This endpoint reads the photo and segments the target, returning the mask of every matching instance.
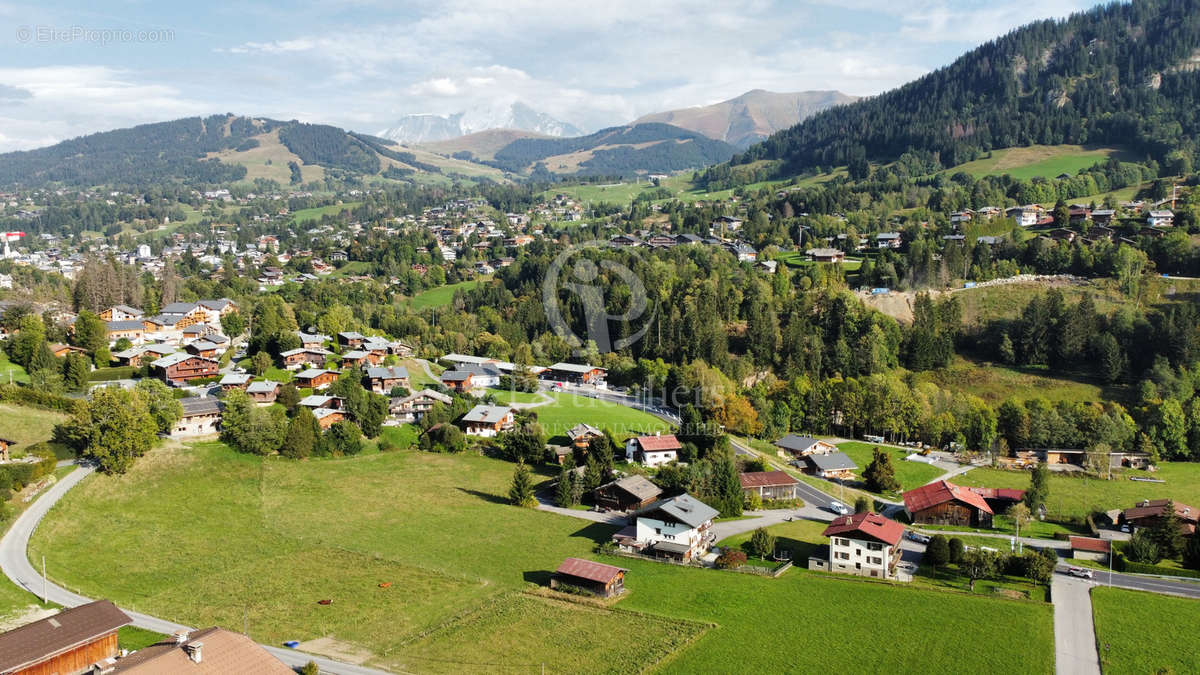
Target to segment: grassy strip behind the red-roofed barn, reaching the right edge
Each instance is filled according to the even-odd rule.
[[[1115,476],[1114,480],[1096,480],[1051,473],[1046,509],[1051,515],[1084,516],[1093,508],[1129,508],[1141,500],[1172,498],[1193,506],[1200,502],[1200,464],[1162,462],[1154,473],[1127,471],[1123,476]],[[1129,480],[1127,476],[1159,478],[1166,483],[1140,483]],[[959,485],[1024,490],[1030,486],[1030,472],[972,468],[954,482]]]

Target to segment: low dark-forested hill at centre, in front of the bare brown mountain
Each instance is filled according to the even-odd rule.
[[[577,138],[521,138],[496,153],[493,166],[511,172],[632,175],[666,173],[727,161],[734,149],[722,141],[671,126],[614,126]]]

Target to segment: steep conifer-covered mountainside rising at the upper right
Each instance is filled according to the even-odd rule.
[[[1200,0],[1112,4],[1014,30],[920,79],[818,113],[734,160],[784,173],[890,161],[955,166],[995,148],[1123,145],[1163,161],[1200,131]]]

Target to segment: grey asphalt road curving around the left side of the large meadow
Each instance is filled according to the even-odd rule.
[[[37,528],[42,518],[44,518],[50,510],[50,507],[53,507],[60,498],[62,498],[62,495],[67,494],[71,488],[74,488],[92,471],[94,468],[91,466],[82,466],[64,476],[61,480],[55,483],[49,490],[43,492],[41,497],[34,501],[34,503],[25,509],[25,513],[20,514],[20,518],[12,524],[12,527],[7,533],[5,533],[4,538],[0,539],[0,572],[4,572],[4,574],[8,579],[12,579],[14,584],[37,597],[42,597],[43,593],[42,575],[29,562],[29,539],[34,536],[34,530]],[[46,584],[44,593],[46,599],[62,607],[76,607],[91,602],[91,598],[73,593],[54,584]],[[167,635],[176,631],[192,631],[192,627],[184,626],[182,623],[175,623],[174,621],[167,621],[164,619],[158,619],[137,611],[130,611],[128,609],[124,609],[124,611],[133,619],[133,625],[138,628],[145,628],[148,631]],[[317,667],[320,668],[322,673],[330,673],[334,675],[384,675],[386,673],[385,670],[377,670],[374,668],[366,668],[353,663],[341,663],[338,661],[331,661],[295,650],[270,645],[263,645],[263,647],[292,668],[301,667],[312,661],[317,663]]]

